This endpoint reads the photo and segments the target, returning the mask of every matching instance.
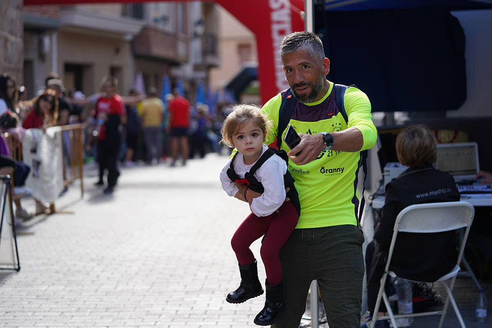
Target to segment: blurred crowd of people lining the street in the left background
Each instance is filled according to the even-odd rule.
[[[114,191],[120,176],[119,163],[132,167],[139,162],[152,165],[171,158],[170,166],[179,159],[185,165],[195,155],[203,158],[208,151],[220,151],[217,143],[221,122],[215,118],[220,120],[222,115],[211,115],[204,104],[192,106],[177,89],[164,97],[156,88],[150,88],[147,95],[135,89],[120,95],[117,79],[105,76],[99,92],[86,96],[80,90],[66,90],[61,77],[50,73],[35,97],[27,99],[27,93],[11,74],[1,74],[1,132],[22,143],[27,129],[45,131],[52,126],[84,123],[84,158],[98,163],[99,180],[95,184],[106,185],[104,193]],[[225,105],[217,104],[220,114]],[[16,193],[29,193],[24,186],[31,171],[29,163],[19,161],[20,154],[10,154],[3,134],[1,138],[0,173],[13,175]],[[36,210],[30,213],[22,207],[20,198],[14,201],[18,220],[47,210],[47,204],[36,201]]]

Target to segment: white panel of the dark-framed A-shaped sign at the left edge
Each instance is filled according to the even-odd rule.
[[[17,244],[13,234],[13,221],[10,215],[9,198],[5,197],[9,180],[0,180],[0,268],[19,269]]]

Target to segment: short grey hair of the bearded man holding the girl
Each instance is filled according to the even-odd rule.
[[[321,39],[312,32],[294,32],[286,35],[280,44],[280,57],[299,50],[306,50],[309,56],[321,62],[325,58]]]

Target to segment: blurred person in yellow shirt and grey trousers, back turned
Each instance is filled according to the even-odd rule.
[[[163,117],[164,103],[157,97],[157,89],[151,88],[147,99],[142,101],[142,128],[149,164],[152,163],[154,158],[158,163],[162,155]]]

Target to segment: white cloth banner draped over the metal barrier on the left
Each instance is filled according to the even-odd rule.
[[[22,140],[24,163],[31,167],[26,186],[32,197],[52,204],[63,190],[62,129],[28,129]]]

